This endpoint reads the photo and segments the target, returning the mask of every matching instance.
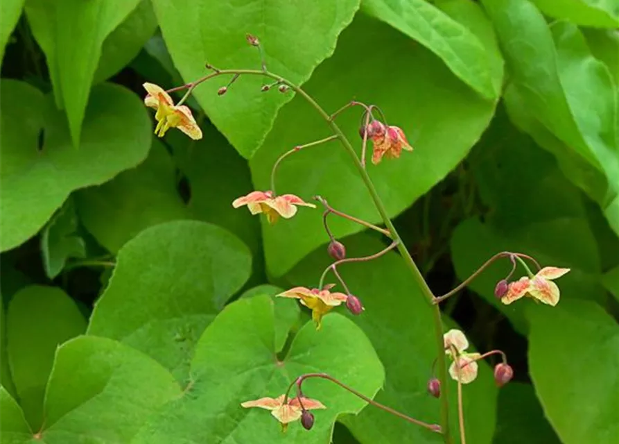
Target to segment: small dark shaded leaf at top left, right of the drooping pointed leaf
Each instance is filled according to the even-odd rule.
[[[141,0],[125,20],[103,41],[101,58],[92,83],[114,76],[137,56],[157,29],[150,0]]]

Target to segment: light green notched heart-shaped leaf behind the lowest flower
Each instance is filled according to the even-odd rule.
[[[294,301],[288,301],[295,303]],[[273,305],[268,297],[238,300],[207,327],[191,362],[191,384],[149,421],[132,444],[158,443],[329,443],[335,418],[356,413],[365,402],[324,380],[303,386],[308,398],[320,400],[311,433],[298,423],[286,434],[262,409],[246,410],[241,402],[276,398],[303,373],[329,373],[365,395],[381,387],[383,366],[363,331],[347,318],[329,314],[322,330],[308,322],[290,352],[278,361],[274,348]]]

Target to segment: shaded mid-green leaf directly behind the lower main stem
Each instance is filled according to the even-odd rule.
[[[342,240],[349,257],[374,254],[385,246],[358,234]],[[315,287],[329,257],[317,250],[286,276],[291,286]],[[437,356],[432,307],[410,271],[396,253],[387,253],[367,264],[338,267],[351,291],[360,298],[365,311],[354,321],[372,341],[385,366],[387,379],[376,401],[413,418],[439,422],[439,401],[426,392]],[[333,276],[329,278],[334,281]],[[327,280],[326,282],[333,282]],[[345,311],[345,310],[343,310]],[[444,321],[453,324],[444,316]],[[445,390],[445,388],[443,388]],[[456,384],[450,379],[452,425],[457,422]],[[464,387],[464,418],[471,443],[490,443],[496,415],[496,388],[489,366],[480,363],[478,380]],[[441,436],[406,421],[367,408],[359,416],[342,418],[362,444],[439,443]]]

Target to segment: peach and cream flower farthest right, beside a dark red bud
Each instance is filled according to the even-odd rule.
[[[532,278],[523,276],[515,282],[510,282],[509,287],[507,287],[507,293],[500,300],[503,304],[509,305],[523,296],[530,296],[554,307],[559,302],[560,294],[559,287],[552,280],[561,278],[562,275],[569,271],[570,268],[546,266]]]

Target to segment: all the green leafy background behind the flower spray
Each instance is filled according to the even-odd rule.
[[[272,295],[329,263],[320,212],[268,226],[230,205],[329,135],[302,98],[213,80],[188,101],[202,140],[152,136],[141,84],[257,67],[245,33],[326,110],[377,103],[405,130],[415,151],[369,173],[435,293],[500,250],[572,269],[552,309],[496,301],[508,264],[444,305],[516,370],[500,392],[486,364],[465,387],[469,441],[616,443],[618,28],[617,0],[2,0],[2,443],[440,441],[322,381],[312,432],[240,407],[320,370],[438,421],[430,307],[396,253],[343,266],[366,311],[316,332]],[[335,143],[277,183],[380,221]],[[332,229],[349,255],[385,245]]]

